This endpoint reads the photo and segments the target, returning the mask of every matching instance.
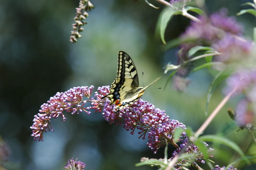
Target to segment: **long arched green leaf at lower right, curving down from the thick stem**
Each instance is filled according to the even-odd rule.
[[[232,148],[233,150],[235,150],[242,157],[245,157],[243,151],[239,148],[239,146],[236,143],[234,143],[233,141],[229,140],[228,138],[226,138],[224,136],[203,135],[203,136],[200,136],[198,138],[198,140],[200,140],[200,141],[207,141],[207,142],[216,142],[216,143],[220,143],[220,144],[226,145],[226,146]],[[249,160],[247,158],[244,158],[244,160],[249,162]]]

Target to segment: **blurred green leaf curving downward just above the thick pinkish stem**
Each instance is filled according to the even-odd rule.
[[[207,109],[208,109],[208,105],[209,102],[211,100],[212,94],[214,92],[214,90],[216,89],[216,87],[223,81],[225,80],[231,73],[230,72],[224,72],[221,71],[219,72],[214,79],[212,80],[210,87],[208,89],[207,92],[207,96],[206,96],[206,106],[205,106],[205,115],[207,115]]]

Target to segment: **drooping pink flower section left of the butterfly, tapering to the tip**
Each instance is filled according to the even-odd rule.
[[[90,114],[88,110],[91,107],[84,107],[87,102],[83,100],[83,97],[90,98],[92,89],[94,87],[74,87],[64,93],[58,92],[55,96],[51,97],[47,103],[41,105],[39,113],[34,116],[32,129],[32,137],[35,140],[43,141],[43,132],[53,131],[51,126],[51,119],[62,117],[63,121],[66,120],[63,111],[71,112],[71,114],[79,114],[80,112],[86,112]]]

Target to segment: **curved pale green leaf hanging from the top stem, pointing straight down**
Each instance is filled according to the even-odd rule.
[[[160,37],[164,44],[166,44],[165,39],[164,39],[165,29],[167,27],[168,22],[172,19],[172,16],[176,15],[176,14],[182,14],[182,12],[178,11],[178,10],[174,10],[172,8],[164,9],[164,13],[160,20]]]

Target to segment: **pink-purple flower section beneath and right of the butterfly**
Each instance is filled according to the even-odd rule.
[[[109,88],[109,86],[98,88],[95,97],[100,100],[99,94],[107,94],[107,88]],[[103,97],[104,95],[100,95],[100,97]],[[178,120],[170,120],[165,111],[155,108],[153,104],[150,104],[141,98],[130,106],[119,110],[119,112],[116,112],[117,109],[114,104],[109,105],[108,100],[104,101],[105,103],[103,104],[102,109],[104,119],[110,124],[117,120],[116,124],[118,125],[120,125],[121,120],[123,120],[124,128],[127,131],[131,131],[131,134],[134,134],[135,129],[138,129],[138,133],[142,139],[145,139],[146,134],[148,133],[147,145],[154,151],[154,153],[156,153],[161,146],[170,143],[176,127],[186,128],[185,125]],[[93,105],[95,107],[95,104]],[[102,103],[100,107],[102,107]]]

